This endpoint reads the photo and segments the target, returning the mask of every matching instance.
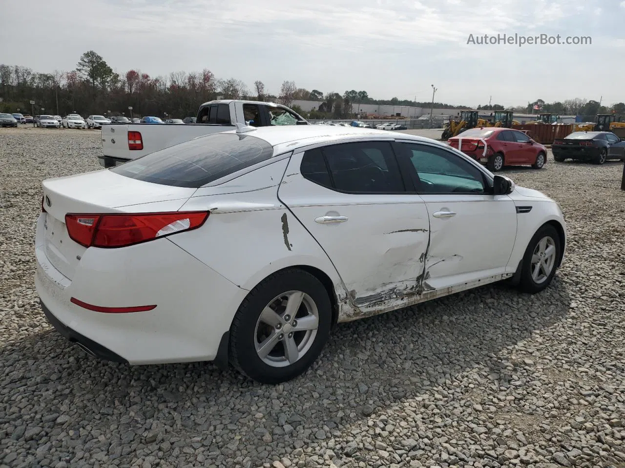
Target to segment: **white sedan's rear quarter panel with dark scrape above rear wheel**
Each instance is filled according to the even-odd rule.
[[[210,210],[206,223],[169,240],[245,290],[293,265],[313,266],[339,283],[324,251],[277,198],[287,162],[200,189],[199,193],[212,194],[192,197],[180,209]]]

